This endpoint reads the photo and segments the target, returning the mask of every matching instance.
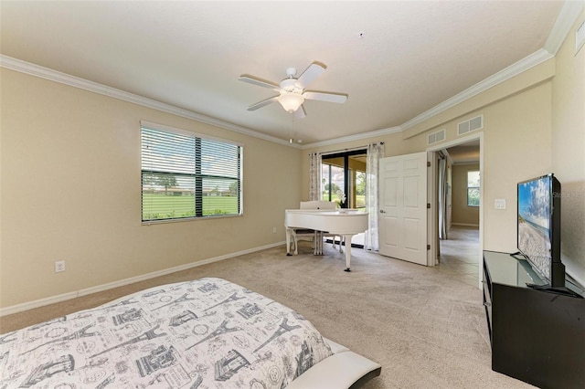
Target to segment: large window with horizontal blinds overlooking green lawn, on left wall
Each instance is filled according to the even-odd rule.
[[[143,122],[143,222],[241,215],[242,149]]]

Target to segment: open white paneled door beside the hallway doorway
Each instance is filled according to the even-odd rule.
[[[427,265],[427,152],[380,159],[379,253]]]

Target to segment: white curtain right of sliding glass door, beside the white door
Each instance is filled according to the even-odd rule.
[[[367,145],[366,163],[366,210],[369,213],[367,231],[364,237],[364,249],[378,251],[378,172],[379,160],[384,158],[384,143]]]

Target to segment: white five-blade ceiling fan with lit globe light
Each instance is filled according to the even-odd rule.
[[[286,69],[286,79],[282,79],[280,83],[267,81],[265,79],[259,79],[254,76],[242,74],[239,76],[240,81],[249,82],[250,84],[258,85],[263,88],[268,88],[279,92],[277,96],[272,96],[266,100],[261,100],[256,104],[250,105],[248,110],[258,110],[274,101],[281,103],[282,108],[289,113],[293,114],[293,117],[297,119],[304,118],[306,112],[304,111],[303,102],[304,100],[320,100],[327,102],[343,103],[347,100],[345,93],[333,93],[333,92],[321,92],[316,90],[305,90],[311,82],[319,77],[327,68],[321,62],[313,62],[303,71],[303,74],[299,78],[295,78],[296,69]]]

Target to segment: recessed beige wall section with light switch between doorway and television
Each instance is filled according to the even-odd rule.
[[[516,184],[549,173],[550,82],[484,109],[484,249],[516,251]],[[506,201],[496,210],[495,199]]]

